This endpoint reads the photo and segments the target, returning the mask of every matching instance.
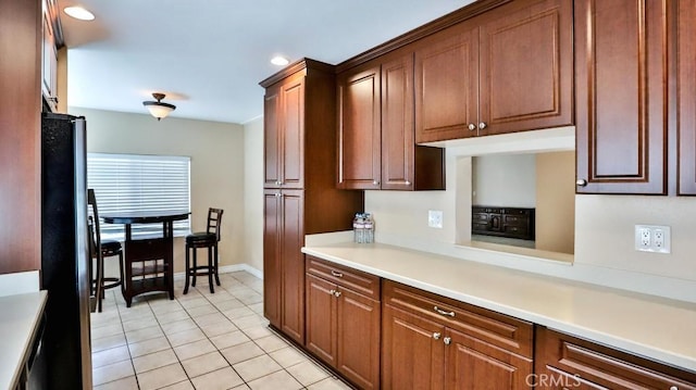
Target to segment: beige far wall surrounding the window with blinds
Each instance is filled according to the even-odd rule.
[[[204,230],[208,207],[224,210],[220,265],[245,262],[245,137],[239,125],[148,114],[69,108],[87,118],[87,151],[188,155],[191,229]],[[184,271],[185,243],[174,240],[174,272]]]

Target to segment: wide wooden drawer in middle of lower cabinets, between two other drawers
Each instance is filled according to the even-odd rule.
[[[532,357],[533,325],[489,310],[384,280],[383,302],[463,331],[521,356]]]

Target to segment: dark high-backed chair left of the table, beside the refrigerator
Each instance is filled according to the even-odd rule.
[[[90,267],[90,278],[92,282],[92,291],[97,299],[97,311],[101,313],[101,300],[104,298],[104,290],[121,286],[123,293],[123,246],[116,240],[102,240],[101,229],[99,227],[99,207],[97,207],[97,197],[95,190],[87,190],[87,204],[89,205],[89,253],[91,259],[97,261],[97,275],[92,275]],[[97,250],[99,249],[99,250]],[[117,257],[116,257],[117,256]],[[104,277],[104,259],[117,259],[119,277]]]

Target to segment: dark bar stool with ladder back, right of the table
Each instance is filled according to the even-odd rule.
[[[215,293],[213,288],[213,276],[215,284],[220,286],[217,276],[217,242],[220,241],[220,226],[222,223],[222,209],[208,209],[208,227],[206,231],[192,232],[186,236],[186,287],[184,293],[188,293],[189,277],[192,278],[191,286],[196,287],[196,276],[208,275],[210,293]],[[208,248],[208,264],[198,265],[196,252],[199,248]],[[189,256],[194,252],[192,264]]]

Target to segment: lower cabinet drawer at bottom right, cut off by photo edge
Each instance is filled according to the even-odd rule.
[[[536,327],[536,373],[567,377],[570,383],[610,389],[696,389],[687,373],[593,342]]]

